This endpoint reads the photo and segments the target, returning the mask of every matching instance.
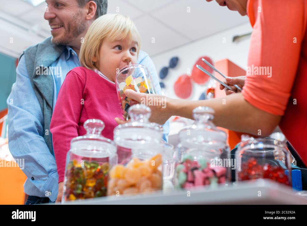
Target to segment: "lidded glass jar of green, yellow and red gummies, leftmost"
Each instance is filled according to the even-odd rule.
[[[84,122],[87,134],[71,140],[67,153],[62,203],[107,194],[109,168],[117,164],[115,143],[101,136],[103,121]]]

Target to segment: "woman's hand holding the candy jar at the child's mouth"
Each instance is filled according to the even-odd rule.
[[[172,101],[168,97],[157,94],[138,93],[130,89],[126,89],[125,94],[129,99],[134,99],[142,105],[150,107],[150,122],[163,125],[169,119],[169,117],[172,116],[172,111],[169,111]],[[120,118],[115,118],[115,121],[118,124],[123,124],[127,122]]]

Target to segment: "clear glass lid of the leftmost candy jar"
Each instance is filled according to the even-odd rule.
[[[71,150],[79,150],[80,155],[90,155],[88,157],[93,156],[93,151],[99,152],[101,157],[107,157],[116,153],[115,143],[101,135],[105,127],[103,121],[99,119],[87,119],[83,125],[87,133],[71,140]],[[99,154],[97,154],[96,157],[98,157],[98,155]]]

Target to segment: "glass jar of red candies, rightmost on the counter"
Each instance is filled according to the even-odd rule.
[[[286,143],[257,138],[239,143],[235,152],[236,181],[268,178],[291,185],[290,152]]]

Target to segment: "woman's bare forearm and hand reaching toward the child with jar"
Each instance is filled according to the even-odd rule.
[[[152,111],[150,121],[159,124],[163,124],[172,115],[193,119],[192,111],[195,107],[208,106],[215,111],[213,121],[216,126],[267,136],[274,130],[281,119],[281,116],[272,115],[254,107],[243,98],[241,93],[227,95],[223,98],[196,101],[171,99],[162,95],[137,93],[132,90],[126,90],[125,94],[128,98],[135,99],[138,102],[146,100],[146,95],[148,95],[148,100],[155,98],[156,103],[159,103],[161,99],[165,101],[165,108],[162,108],[161,103],[156,106],[149,106]],[[150,101],[148,102],[150,103]],[[152,101],[152,103],[154,102]],[[125,123],[125,121],[118,118],[116,121]]]

